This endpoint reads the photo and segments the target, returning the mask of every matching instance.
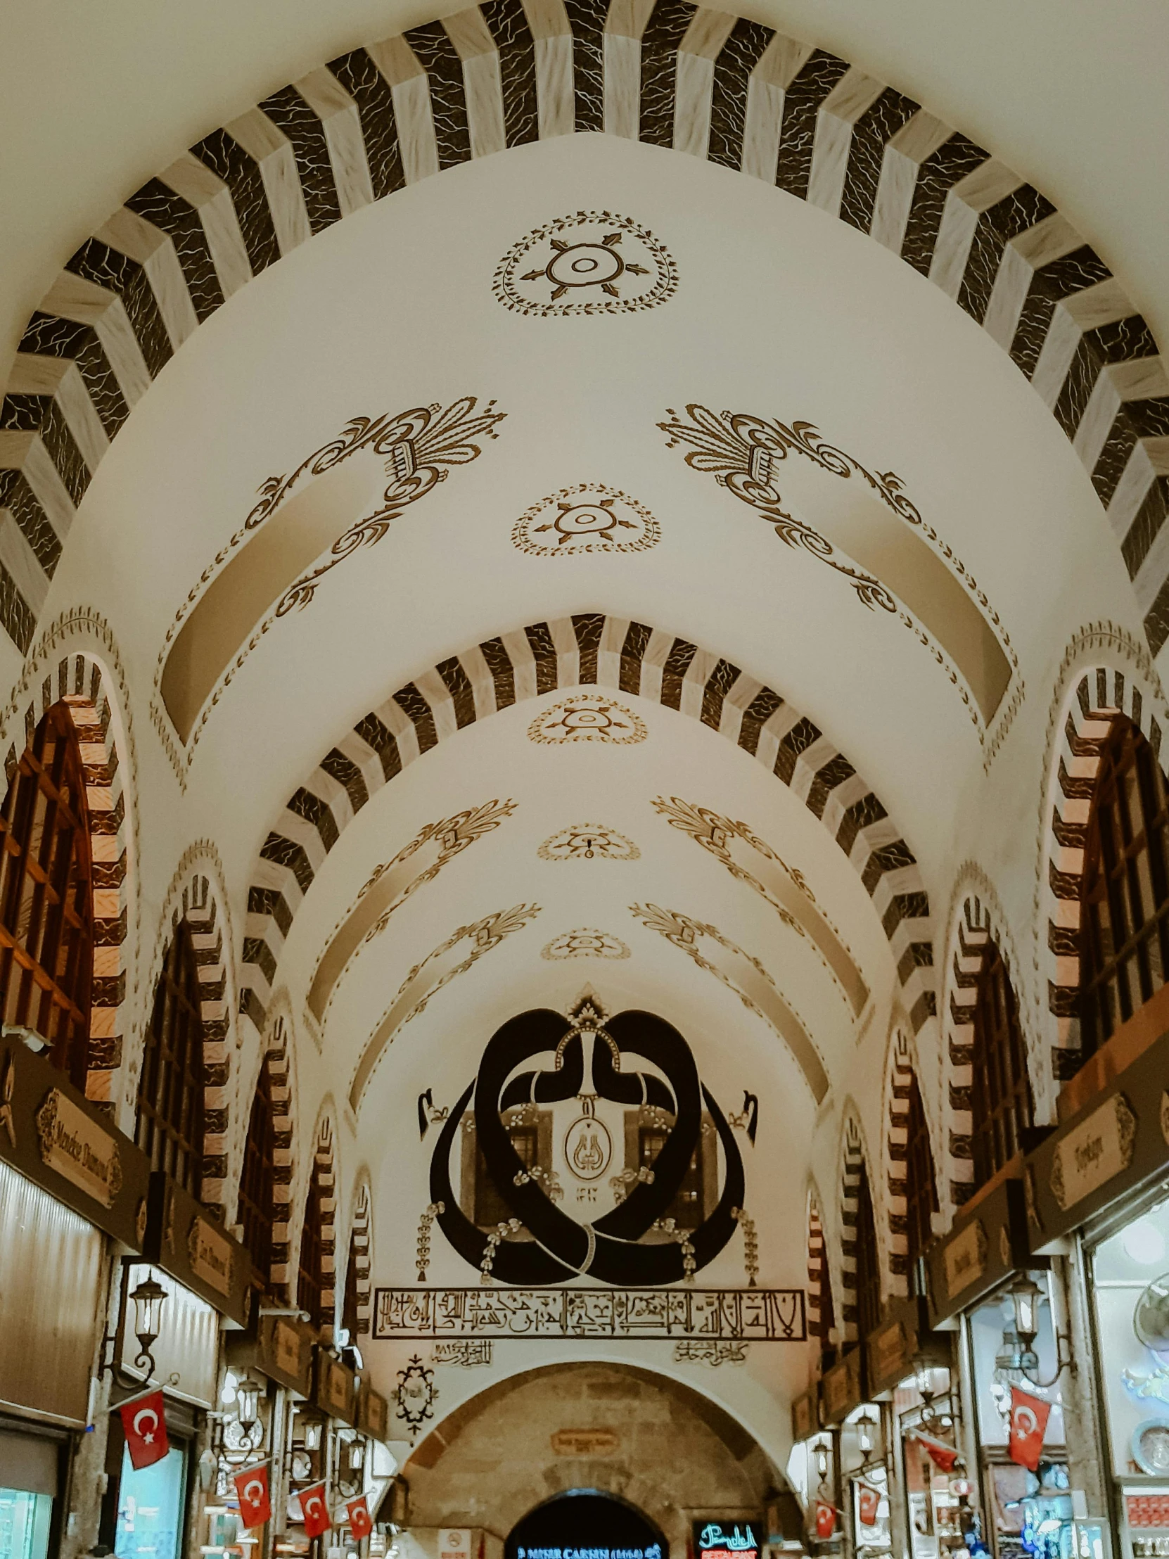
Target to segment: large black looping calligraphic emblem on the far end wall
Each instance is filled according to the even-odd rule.
[[[650,1122],[639,1135],[642,1163],[611,1175],[631,1112]],[[695,1213],[695,1227],[678,1228],[672,1210],[683,1182],[697,1155],[714,1151],[714,1141],[701,1144],[703,1113],[722,1147],[722,1188],[706,1216]],[[474,1121],[489,1200],[508,1214],[485,1227],[460,1208],[450,1182],[464,1116]],[[580,1188],[575,1202],[561,1177],[569,1191]],[[606,1177],[614,1188],[608,1210],[594,1191]],[[482,1190],[480,1180],[477,1199]],[[689,1045],[662,1018],[630,1010],[574,1021],[525,1012],[496,1030],[479,1076],[450,1110],[430,1160],[430,1202],[443,1208],[438,1225],[454,1249],[497,1281],[539,1286],[589,1277],[620,1288],[658,1286],[692,1278],[734,1236],[743,1161]]]

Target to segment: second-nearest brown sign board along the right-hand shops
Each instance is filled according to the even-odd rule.
[[[1022,1182],[1004,1180],[960,1211],[951,1232],[929,1246],[931,1327],[946,1325],[1030,1261]]]

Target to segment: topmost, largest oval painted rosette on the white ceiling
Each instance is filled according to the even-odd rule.
[[[630,217],[577,210],[535,228],[496,267],[496,298],[513,313],[631,313],[673,296],[678,267]]]

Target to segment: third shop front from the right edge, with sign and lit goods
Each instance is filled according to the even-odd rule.
[[[888,1447],[859,1508],[870,1551],[938,1559],[965,1547],[969,1531],[949,1338],[931,1330],[923,1299],[906,1299],[888,1306],[865,1352],[868,1394],[881,1403]]]

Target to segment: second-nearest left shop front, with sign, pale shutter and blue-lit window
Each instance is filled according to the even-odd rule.
[[[157,1291],[154,1339],[142,1345],[136,1297]],[[162,1389],[167,1453],[134,1465],[125,1416],[111,1417],[108,1494],[101,1539],[115,1559],[179,1559],[189,1523],[198,1523],[210,1414],[218,1406],[220,1339],[242,1328],[251,1306],[251,1258],[206,1208],[167,1174],[150,1177],[143,1260],[122,1275],[114,1403]],[[132,1433],[132,1417],[131,1433]],[[108,1529],[112,1518],[112,1532]]]

